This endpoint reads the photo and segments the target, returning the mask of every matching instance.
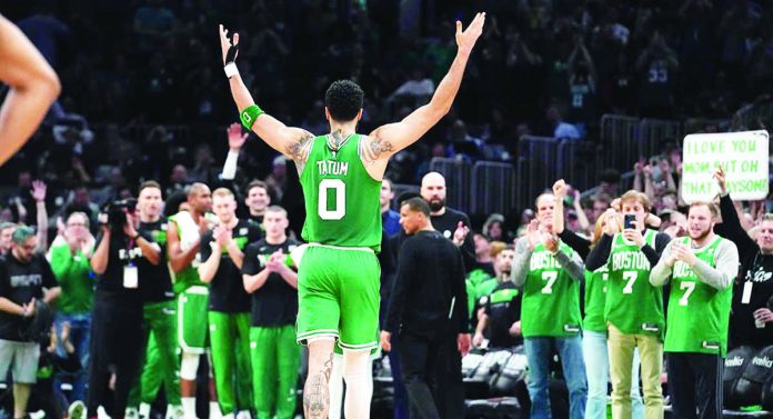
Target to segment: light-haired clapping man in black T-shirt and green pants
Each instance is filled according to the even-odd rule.
[[[252,406],[250,295],[241,267],[244,248],[260,240],[261,231],[254,222],[237,218],[237,200],[225,188],[212,192],[212,211],[218,225],[201,238],[199,277],[211,285],[208,320],[214,386],[220,411],[232,419]]]

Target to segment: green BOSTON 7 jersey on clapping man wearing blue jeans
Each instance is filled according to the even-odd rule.
[[[563,242],[559,246],[574,255]],[[521,329],[524,338],[578,336],[581,329],[580,281],[570,278],[542,243],[534,248],[523,283]]]

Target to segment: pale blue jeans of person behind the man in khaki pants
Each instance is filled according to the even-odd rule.
[[[586,419],[606,418],[606,390],[610,380],[610,357],[606,352],[606,332],[583,332],[582,350],[585,353],[585,371],[588,376]],[[631,402],[633,419],[644,419],[644,405],[639,390],[639,349],[633,353],[633,370],[631,371]]]

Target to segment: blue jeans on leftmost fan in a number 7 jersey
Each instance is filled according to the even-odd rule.
[[[582,357],[582,338],[524,338],[523,346],[529,361],[529,398],[531,399],[531,418],[550,419],[550,382],[551,343],[555,345],[563,367],[564,379],[569,388],[569,417],[583,419],[585,417],[585,362]]]

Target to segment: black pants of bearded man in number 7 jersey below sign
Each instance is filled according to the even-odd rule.
[[[721,419],[724,369],[722,357],[695,352],[666,352],[666,361],[674,418]]]

